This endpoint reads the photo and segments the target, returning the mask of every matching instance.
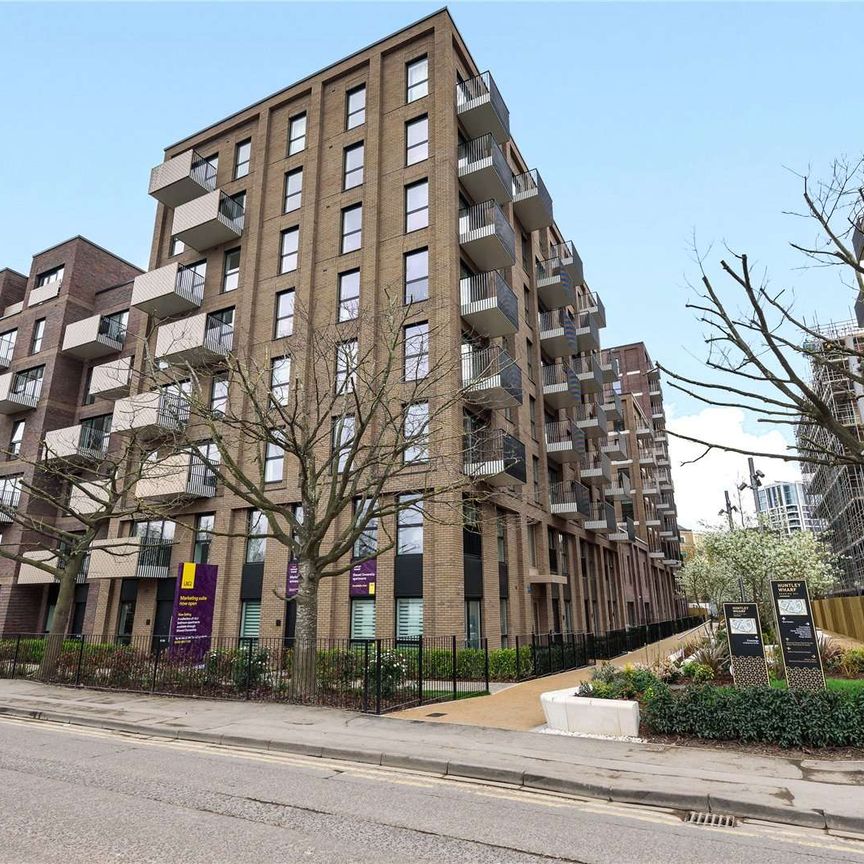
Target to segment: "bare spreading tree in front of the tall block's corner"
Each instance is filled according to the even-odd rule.
[[[374,313],[348,315],[313,325],[295,309],[279,353],[223,345],[216,368],[228,395],[217,405],[207,386],[213,368],[168,369],[162,358],[158,372],[191,382],[190,446],[228,492],[260,511],[267,535],[295,562],[298,695],[315,683],[321,582],[393,548],[390,526],[401,514],[461,522],[463,494],[494,494],[476,486],[490,462],[524,464],[503,430],[483,421],[463,433],[466,395],[482,409],[485,388],[513,387],[514,376],[521,386],[509,356],[495,346],[463,350],[449,308],[432,301],[422,318],[389,296]],[[273,464],[278,479],[288,477],[278,492],[267,485]]]

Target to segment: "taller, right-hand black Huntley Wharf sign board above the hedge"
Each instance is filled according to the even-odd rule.
[[[825,673],[807,583],[803,579],[773,580],[771,594],[786,683],[792,690],[824,690]]]

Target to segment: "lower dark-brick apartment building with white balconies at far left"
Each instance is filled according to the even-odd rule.
[[[33,256],[29,274],[0,270],[0,533],[4,546],[44,547],[10,511],[61,520],[27,486],[47,442],[54,454],[94,464],[109,443],[113,399],[128,386],[137,327],[130,312],[142,271],[84,237]],[[24,488],[22,488],[22,485]],[[69,629],[92,626],[99,587],[77,586]],[[38,633],[51,623],[57,585],[28,565],[0,558],[0,633]],[[86,618],[90,610],[90,619]]]

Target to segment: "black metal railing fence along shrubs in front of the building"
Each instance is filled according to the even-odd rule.
[[[486,639],[465,647],[455,636],[319,639],[304,649],[282,638],[172,642],[168,636],[86,635],[51,644],[44,634],[21,634],[0,638],[0,678],[382,714],[488,693],[491,681],[524,681],[588,666],[701,620],[679,618],[599,635],[517,636],[492,651]]]

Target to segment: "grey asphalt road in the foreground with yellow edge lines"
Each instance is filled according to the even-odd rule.
[[[864,842],[394,769],[0,719],[0,862],[789,864]]]

